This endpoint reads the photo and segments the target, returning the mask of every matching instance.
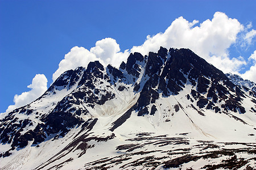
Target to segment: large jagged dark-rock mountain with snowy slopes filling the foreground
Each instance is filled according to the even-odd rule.
[[[253,169],[256,92],[189,49],[90,62],[1,115],[1,169]]]

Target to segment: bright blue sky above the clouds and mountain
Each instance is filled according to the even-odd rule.
[[[217,54],[215,49],[216,54],[210,51],[212,54],[209,55],[220,55],[223,58],[229,54],[229,59],[240,59],[240,62],[233,59],[238,65],[233,71],[244,74],[256,61],[256,57],[255,61],[253,57],[249,59],[256,50],[255,36],[251,36],[250,43],[242,38],[250,31],[253,35],[253,30],[256,29],[255,8],[255,1],[0,0],[0,113],[14,104],[15,95],[31,90],[27,86],[31,84],[36,74],[44,74],[49,87],[52,83],[52,74],[60,69],[60,61],[74,46],[90,50],[97,46],[97,41],[111,37],[112,39],[106,39],[104,43],[108,44],[111,41],[115,47],[119,44],[117,52],[124,53],[126,49],[133,52],[133,46],[141,46],[147,35],[152,38],[159,32],[164,33],[180,16],[189,23],[193,20],[198,21],[191,29],[200,27],[205,20],[212,21],[215,16],[217,18],[217,15],[214,15],[217,11],[223,12],[230,19],[237,19],[239,24],[234,20],[232,22],[238,26],[243,25],[243,31],[239,27],[240,31],[235,35],[236,40],[227,42],[228,48],[223,49],[227,52]],[[225,19],[225,15],[221,17]],[[184,22],[181,18],[176,21]],[[93,54],[97,53],[95,50],[97,48]],[[204,54],[202,49],[196,50]],[[72,57],[72,54],[70,56]],[[214,64],[213,59],[214,57],[210,56],[207,61]],[[47,80],[43,76],[40,78],[44,81],[41,85],[46,86]],[[42,80],[40,78],[38,76],[38,80]],[[34,86],[36,85],[30,87]],[[44,89],[45,87],[40,88],[41,91]]]

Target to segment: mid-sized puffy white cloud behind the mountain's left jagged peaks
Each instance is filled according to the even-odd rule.
[[[128,56],[129,50],[120,52],[119,44],[112,38],[97,41],[90,50],[75,46],[60,61],[59,68],[52,75],[52,80],[54,82],[64,71],[76,69],[78,66],[86,67],[90,61],[98,60],[105,66],[109,63],[113,66],[119,66]]]

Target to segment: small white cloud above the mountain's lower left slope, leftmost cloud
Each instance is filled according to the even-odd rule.
[[[22,107],[28,103],[31,103],[39,96],[43,95],[44,92],[47,90],[47,78],[44,74],[36,74],[35,77],[32,79],[32,83],[27,86],[31,88],[30,91],[23,92],[21,95],[14,96],[14,105],[9,105],[6,112],[13,111],[18,107]]]

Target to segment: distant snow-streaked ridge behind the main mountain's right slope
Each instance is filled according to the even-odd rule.
[[[237,74],[227,73],[229,80],[234,83],[235,85],[239,86],[240,88],[245,88],[245,90],[250,89],[256,92],[256,84],[251,82],[250,80],[244,80],[241,76]]]

